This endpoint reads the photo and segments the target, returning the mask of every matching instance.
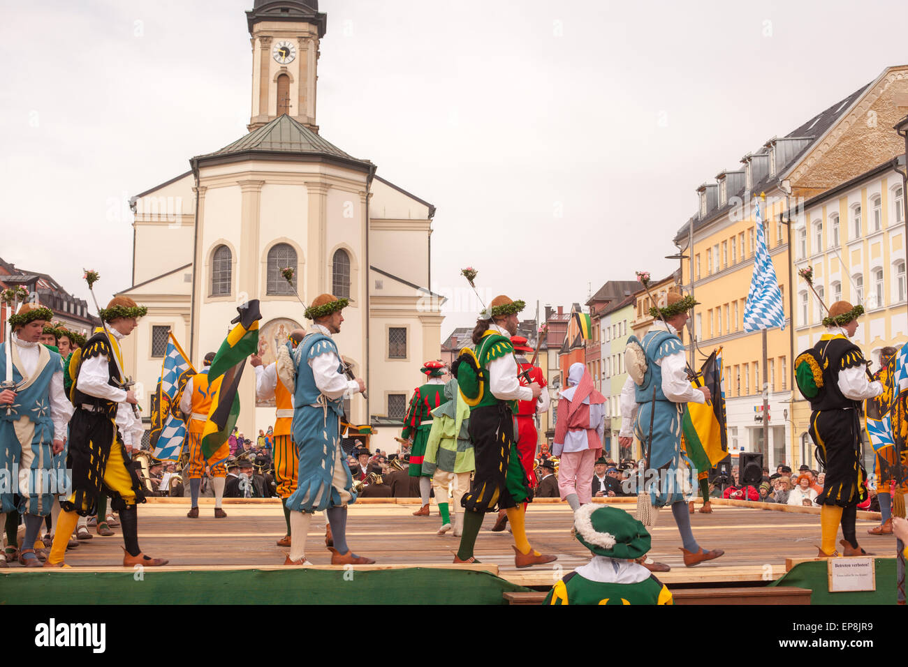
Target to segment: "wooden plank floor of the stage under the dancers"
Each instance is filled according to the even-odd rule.
[[[633,511],[633,505],[617,505]],[[283,563],[285,549],[275,541],[284,534],[281,505],[225,504],[225,519],[215,519],[213,507],[203,503],[200,518],[188,519],[188,500],[184,503],[150,502],[139,508],[139,543],[146,554],[162,556],[173,567],[202,569],[208,566],[270,567]],[[347,541],[355,552],[368,555],[381,565],[450,564],[459,539],[448,534],[435,535],[440,519],[432,505],[431,516],[412,516],[418,505],[356,504],[350,506]],[[528,511],[528,536],[534,548],[557,554],[551,565],[518,570],[514,566],[512,538],[506,531],[492,533],[494,516],[486,517],[476,544],[476,556],[484,564],[498,566],[498,574],[517,584],[551,585],[556,574],[568,573],[589,559],[589,552],[570,535],[571,513],[568,505],[548,503],[531,505]],[[712,515],[695,514],[691,523],[699,544],[707,549],[724,549],[716,561],[686,568],[681,559],[681,540],[667,510],[651,529],[651,556],[671,565],[670,573],[659,574],[666,584],[716,584],[759,582],[785,573],[786,558],[811,558],[819,544],[819,516],[788,514],[745,507],[714,505]],[[324,546],[324,515],[311,522],[306,556],[313,564],[327,565],[330,554]],[[858,539],[870,552],[892,555],[892,535],[866,535],[873,521],[859,519]],[[123,539],[119,528],[113,537],[93,539],[67,552],[66,562],[76,568],[99,568],[122,561]],[[840,535],[841,538],[841,535]],[[6,570],[20,569],[13,565]],[[24,569],[24,568],[22,568]],[[32,572],[35,572],[33,570]],[[36,572],[41,572],[37,570]],[[46,571],[45,571],[46,572]]]

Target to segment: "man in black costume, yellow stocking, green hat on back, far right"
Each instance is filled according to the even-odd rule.
[[[861,401],[883,393],[879,382],[869,382],[861,348],[848,338],[857,330],[861,306],[836,301],[823,320],[826,333],[811,349],[795,359],[798,387],[810,400],[810,436],[826,479],[816,497],[822,505],[822,544],[817,557],[837,555],[835,535],[842,525],[844,555],[864,555],[857,543],[858,503],[867,498],[867,473],[861,463]],[[805,390],[806,388],[806,390]],[[813,396],[811,396],[813,394]]]

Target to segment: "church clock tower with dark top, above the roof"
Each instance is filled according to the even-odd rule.
[[[252,35],[250,132],[283,113],[318,132],[319,40],[328,25],[319,0],[255,0],[246,21]]]

